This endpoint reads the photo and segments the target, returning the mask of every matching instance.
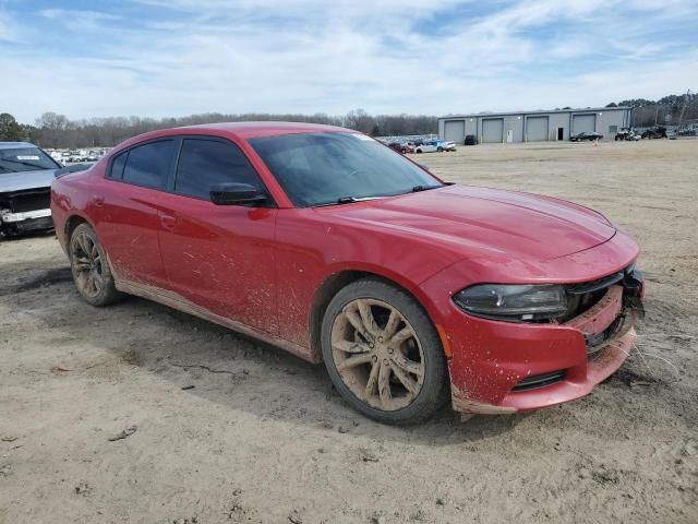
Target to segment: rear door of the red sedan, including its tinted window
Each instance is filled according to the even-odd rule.
[[[160,139],[117,155],[92,195],[97,234],[121,279],[167,287],[157,202],[173,168],[174,146],[176,139]]]

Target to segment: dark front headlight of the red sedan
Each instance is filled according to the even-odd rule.
[[[567,312],[565,288],[557,285],[479,284],[454,296],[454,301],[476,317],[530,322]]]

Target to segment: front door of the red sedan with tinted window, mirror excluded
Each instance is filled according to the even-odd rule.
[[[169,287],[218,315],[276,334],[277,210],[270,202],[261,207],[216,205],[209,190],[222,182],[264,188],[232,142],[182,138],[173,184],[159,211]]]

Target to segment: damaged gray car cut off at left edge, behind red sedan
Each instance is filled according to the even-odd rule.
[[[62,166],[27,142],[0,142],[0,237],[53,227],[50,198]]]

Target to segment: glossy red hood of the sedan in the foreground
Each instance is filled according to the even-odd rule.
[[[600,213],[557,199],[467,186],[329,207],[342,221],[399,229],[464,258],[496,251],[550,260],[590,249],[615,235]]]

